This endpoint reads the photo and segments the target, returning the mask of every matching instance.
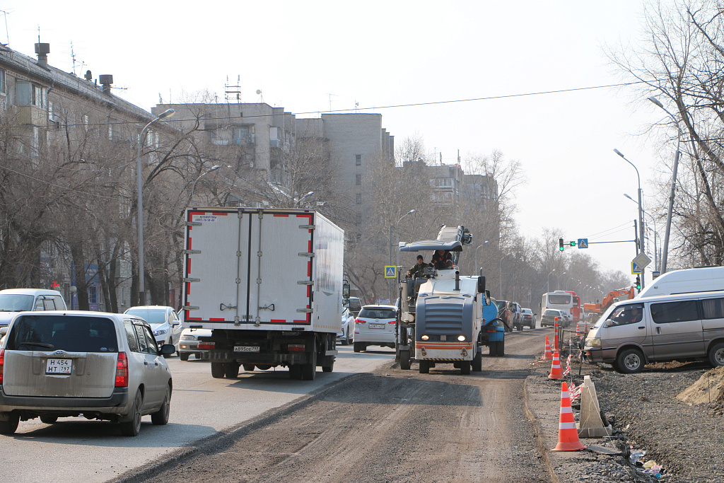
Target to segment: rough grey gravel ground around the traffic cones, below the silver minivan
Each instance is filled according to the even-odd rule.
[[[683,403],[676,398],[702,375],[710,377],[710,366],[650,364],[640,374],[618,374],[607,364],[584,365],[581,377],[578,377],[578,366],[573,369],[575,385],[583,382],[583,375],[591,376],[601,411],[607,419],[605,423],[612,424],[614,429],[612,437],[586,438],[581,442],[589,448],[610,448],[621,454],[607,455],[592,450],[564,456],[552,453],[550,461],[561,483],[724,482],[723,398],[717,397],[716,392],[712,393],[711,402],[699,404]],[[560,382],[547,379],[548,372],[536,368],[536,375],[529,378],[529,391],[534,400],[539,398],[538,392],[550,392],[553,387],[558,387],[560,394]],[[573,408],[578,421],[575,403]],[[555,433],[555,428],[550,426],[550,411],[544,416],[542,432]],[[641,455],[641,451],[645,454]],[[660,465],[663,469],[660,479],[632,464],[631,452],[640,455],[640,463],[655,461]]]

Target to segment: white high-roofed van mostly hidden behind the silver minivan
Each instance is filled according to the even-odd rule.
[[[724,266],[702,266],[666,272],[641,290],[636,298],[717,290],[724,290]]]

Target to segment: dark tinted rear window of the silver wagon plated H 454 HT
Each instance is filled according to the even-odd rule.
[[[105,317],[24,315],[8,334],[9,350],[118,352],[116,330]]]

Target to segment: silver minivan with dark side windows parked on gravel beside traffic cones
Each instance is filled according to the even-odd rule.
[[[701,358],[724,366],[724,291],[615,303],[586,336],[584,357],[626,374],[655,361]]]

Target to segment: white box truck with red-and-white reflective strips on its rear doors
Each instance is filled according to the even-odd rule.
[[[189,208],[182,324],[211,329],[213,377],[286,366],[331,372],[341,329],[344,231],[306,209]]]

